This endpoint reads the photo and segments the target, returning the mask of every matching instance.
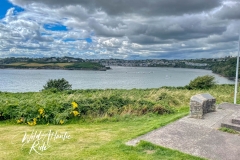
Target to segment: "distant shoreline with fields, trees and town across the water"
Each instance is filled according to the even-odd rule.
[[[74,57],[44,57],[44,58],[4,58],[0,59],[0,68],[17,69],[67,69],[67,70],[107,70],[106,66],[126,67],[174,67],[212,70],[229,79],[235,78],[236,57],[200,58],[200,59],[81,59]]]

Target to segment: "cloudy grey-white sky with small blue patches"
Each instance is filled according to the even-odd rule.
[[[236,56],[240,0],[0,0],[0,58]]]

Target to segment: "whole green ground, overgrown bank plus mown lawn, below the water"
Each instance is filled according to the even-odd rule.
[[[190,97],[206,92],[216,97],[218,104],[233,102],[233,85],[208,90],[0,92],[0,159],[200,159],[147,142],[137,147],[125,142],[187,115]],[[17,124],[21,118],[24,120]],[[36,124],[30,126],[34,118]],[[50,130],[67,133],[70,138],[41,139],[39,145],[49,142],[50,147],[36,149],[41,155],[34,150],[29,154],[37,138],[23,137],[29,138],[32,131],[43,134]]]

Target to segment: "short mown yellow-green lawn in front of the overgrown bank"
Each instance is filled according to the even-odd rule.
[[[68,125],[13,125],[0,123],[0,159],[201,159],[179,151],[141,142],[138,146],[126,146],[132,138],[164,126],[184,115],[181,109],[170,115],[148,114],[144,116],[124,117],[118,121],[75,122]],[[29,154],[33,142],[24,145],[21,150],[24,132],[28,135],[37,132],[67,132],[71,138],[50,141],[51,147],[38,155]],[[17,135],[17,136],[16,136]],[[11,142],[15,143],[12,144]]]

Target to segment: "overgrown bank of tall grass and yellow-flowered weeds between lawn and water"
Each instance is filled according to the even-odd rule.
[[[166,87],[132,90],[70,90],[65,92],[0,93],[0,119],[18,123],[66,124],[74,120],[109,119],[125,115],[174,113],[188,107],[190,97],[210,93],[217,103],[232,102],[234,86],[209,90]],[[76,106],[74,106],[76,105]]]

